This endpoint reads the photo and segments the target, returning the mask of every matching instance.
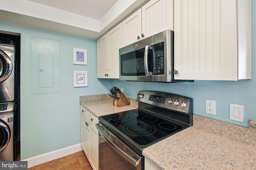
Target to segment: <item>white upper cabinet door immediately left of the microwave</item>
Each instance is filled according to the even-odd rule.
[[[122,23],[108,32],[108,78],[119,78],[119,49],[123,47],[122,37]]]

